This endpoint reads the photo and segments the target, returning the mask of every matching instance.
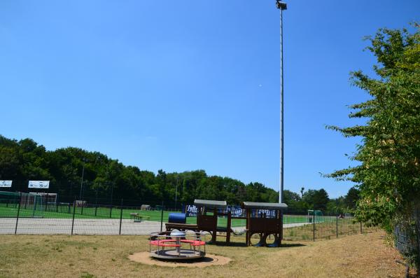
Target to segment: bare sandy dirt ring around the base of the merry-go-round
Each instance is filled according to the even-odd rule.
[[[231,259],[228,257],[217,256],[207,253],[206,256],[199,260],[187,260],[187,261],[169,261],[169,260],[158,260],[152,258],[149,252],[134,253],[128,256],[129,260],[137,263],[143,263],[145,265],[158,265],[167,267],[207,267],[211,265],[227,265]]]

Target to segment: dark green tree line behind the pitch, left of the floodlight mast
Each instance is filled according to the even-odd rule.
[[[139,205],[135,200],[160,204],[163,200],[171,206],[177,185],[178,205],[190,204],[194,199],[227,200],[229,204],[279,200],[278,192],[262,183],[245,184],[228,177],[208,176],[204,170],[166,173],[161,169],[154,174],[125,166],[102,153],[73,147],[46,151],[31,139],[17,141],[0,135],[0,179],[13,180],[15,190],[26,191],[28,180],[50,180],[51,192],[78,196],[83,165],[84,195],[99,192],[99,197],[109,198],[113,190],[116,204],[123,198],[125,204],[130,204],[130,200],[133,205]]]

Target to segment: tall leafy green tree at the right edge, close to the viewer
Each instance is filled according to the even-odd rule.
[[[356,217],[367,225],[380,225],[391,234],[395,225],[410,230],[420,205],[420,33],[406,29],[379,29],[368,37],[367,50],[376,57],[376,76],[351,73],[353,85],[370,99],[351,106],[350,118],[365,118],[365,125],[330,127],[344,137],[361,137],[356,167],[330,176],[357,183],[360,200]],[[413,238],[419,237],[414,235]],[[418,250],[412,261],[420,265]],[[419,267],[417,267],[419,270]]]

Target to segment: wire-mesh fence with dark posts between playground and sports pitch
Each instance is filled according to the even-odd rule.
[[[61,197],[61,198],[60,198]],[[93,197],[59,196],[56,193],[0,192],[0,234],[32,235],[148,235],[165,229],[169,214],[181,209],[167,207],[165,202],[125,200],[112,202]],[[67,202],[60,202],[67,201]],[[155,205],[151,205],[155,204]],[[181,205],[180,205],[181,207]],[[246,219],[232,217],[231,227],[244,231]],[[187,223],[197,223],[187,217]],[[228,219],[218,218],[218,226],[226,226]],[[285,211],[283,239],[319,240],[355,234],[365,230],[351,215],[325,214],[323,211]]]

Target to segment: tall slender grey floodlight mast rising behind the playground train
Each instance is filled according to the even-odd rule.
[[[283,202],[283,186],[284,186],[284,137],[283,137],[283,10],[287,10],[287,4],[276,0],[276,6],[280,10],[280,188],[279,203]]]

